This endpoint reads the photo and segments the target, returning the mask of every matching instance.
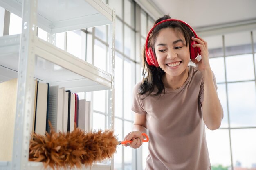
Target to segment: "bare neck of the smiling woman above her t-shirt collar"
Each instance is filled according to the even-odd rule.
[[[184,70],[184,72],[182,72],[182,74],[180,74],[179,76],[171,77],[167,74],[164,74],[162,81],[164,83],[164,87],[175,90],[180,88],[185,83],[188,76],[189,67],[186,67],[186,70]]]

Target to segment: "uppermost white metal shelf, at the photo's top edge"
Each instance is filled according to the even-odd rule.
[[[0,6],[21,17],[22,0],[0,0]],[[37,26],[48,33],[111,24],[112,9],[101,0],[38,0]]]

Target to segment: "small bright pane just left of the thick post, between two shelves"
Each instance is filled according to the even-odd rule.
[[[21,32],[22,32],[22,18],[11,13],[9,35],[21,34]]]

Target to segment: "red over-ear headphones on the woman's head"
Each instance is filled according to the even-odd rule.
[[[196,35],[195,31],[191,28],[191,26],[189,26],[189,24],[187,24],[186,22],[184,22],[184,21],[182,21],[182,20],[166,19],[166,20],[162,20],[162,21],[158,22],[157,24],[155,24],[155,25],[150,29],[150,31],[148,32],[148,36],[147,36],[147,38],[146,38],[145,48],[146,48],[146,61],[147,61],[148,65],[153,65],[153,66],[155,66],[155,67],[159,67],[159,65],[158,65],[158,63],[157,63],[157,59],[156,59],[156,57],[155,57],[155,54],[154,54],[152,48],[150,47],[150,48],[148,49],[148,39],[149,39],[149,36],[150,36],[150,34],[152,33],[153,29],[154,29],[157,25],[159,25],[159,24],[161,24],[161,23],[163,23],[163,22],[168,22],[168,21],[178,21],[178,22],[182,22],[183,24],[185,24],[186,26],[188,26],[189,29],[194,33],[195,38],[198,38],[198,36]],[[190,51],[190,57],[191,57],[191,59],[195,59],[195,57],[198,56],[198,53],[199,53],[199,55],[200,55],[200,52],[201,52],[200,48],[198,48],[198,47],[195,47],[195,48],[194,48],[194,47],[192,46],[193,44],[197,44],[197,42],[191,40],[191,43],[190,43],[190,45],[189,45],[189,51]]]

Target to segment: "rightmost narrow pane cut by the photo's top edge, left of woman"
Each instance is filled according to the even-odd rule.
[[[124,0],[124,21],[134,28],[134,3],[131,0]]]

